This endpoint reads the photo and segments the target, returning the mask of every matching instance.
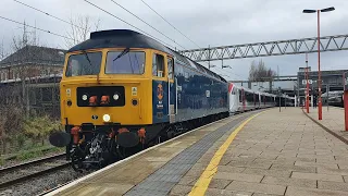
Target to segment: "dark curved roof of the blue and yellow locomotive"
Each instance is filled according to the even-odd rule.
[[[208,73],[210,76],[215,77],[216,79],[226,82],[225,78],[217,75],[216,73],[208,70],[207,68],[194,62],[192,60],[179,54],[178,52],[165,47],[161,42],[142,35],[140,33],[130,30],[130,29],[110,29],[110,30],[100,30],[90,33],[90,38],[85,40],[67,52],[78,51],[78,50],[88,50],[88,49],[98,49],[98,48],[150,48],[165,53],[171,53],[176,60],[184,62],[186,65],[199,70],[203,73]],[[192,65],[195,64],[195,65]]]

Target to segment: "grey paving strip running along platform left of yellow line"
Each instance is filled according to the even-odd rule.
[[[250,114],[243,115],[221,126],[216,131],[206,135],[203,138],[183,150],[162,168],[153,172],[138,185],[129,189],[127,196],[157,196],[167,195],[170,191],[181,181],[185,173],[206,154],[206,151],[226,132],[231,131],[237,123],[247,119]]]

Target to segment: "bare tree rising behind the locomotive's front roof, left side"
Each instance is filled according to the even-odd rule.
[[[65,38],[65,45],[67,48],[87,40],[91,30],[99,29],[100,20],[92,22],[88,15],[79,15],[77,17],[71,16],[70,23],[70,30],[66,32],[67,38]]]

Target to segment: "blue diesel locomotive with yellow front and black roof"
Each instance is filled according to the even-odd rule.
[[[65,56],[60,83],[66,146],[74,169],[102,167],[189,128],[228,115],[228,83],[157,40],[101,30]]]

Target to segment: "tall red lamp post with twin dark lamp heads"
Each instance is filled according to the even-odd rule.
[[[320,71],[320,12],[331,12],[334,11],[335,8],[331,7],[331,8],[326,8],[326,9],[322,9],[322,10],[303,10],[303,13],[318,13],[318,115],[319,115],[319,120],[323,119],[323,108],[322,108],[322,79],[321,79],[321,71]]]

